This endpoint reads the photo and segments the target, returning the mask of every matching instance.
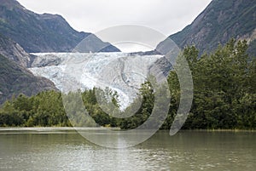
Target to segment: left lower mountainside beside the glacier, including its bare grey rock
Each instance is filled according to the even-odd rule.
[[[18,43],[0,35],[0,105],[13,95],[38,94],[54,89],[55,84],[44,77],[35,77],[26,69],[33,57]]]

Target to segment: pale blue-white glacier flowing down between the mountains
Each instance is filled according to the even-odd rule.
[[[77,89],[111,88],[124,110],[162,55],[129,53],[37,53],[30,71],[46,77],[63,93]]]

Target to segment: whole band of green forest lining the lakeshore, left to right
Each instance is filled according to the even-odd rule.
[[[224,46],[219,45],[212,54],[201,54],[195,46],[183,49],[183,57],[189,62],[194,82],[194,100],[189,117],[183,129],[255,129],[256,128],[256,58],[247,54],[247,42],[230,40]],[[169,129],[177,113],[180,87],[176,71],[168,76],[171,92],[170,109],[163,129]],[[103,111],[97,102],[96,92],[106,97],[106,104],[112,103],[116,108]],[[82,94],[88,115],[97,125],[137,128],[150,116],[154,108],[154,88],[149,81],[142,84],[138,98],[125,109],[119,111],[118,94],[109,88],[93,88]],[[67,118],[62,94],[56,91],[39,93],[32,97],[23,94],[6,101],[0,109],[1,127],[69,127],[84,126],[87,114],[76,112],[79,120]],[[107,113],[129,113],[142,103],[137,112],[128,118],[116,118]],[[75,102],[73,105],[76,105]],[[96,126],[90,120],[86,125]]]

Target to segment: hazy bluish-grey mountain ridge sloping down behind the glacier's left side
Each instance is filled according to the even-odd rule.
[[[75,31],[61,15],[35,14],[16,0],[0,0],[0,33],[10,37],[28,53],[70,52],[85,37],[84,51],[119,52],[95,35]]]

